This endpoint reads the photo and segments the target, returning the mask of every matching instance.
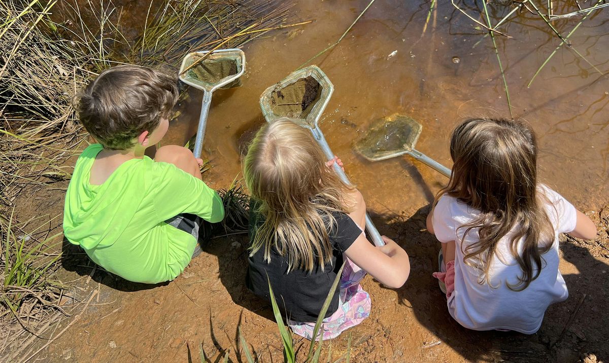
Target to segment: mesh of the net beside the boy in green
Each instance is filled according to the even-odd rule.
[[[198,58],[195,57],[193,62]],[[241,59],[235,57],[218,57],[218,58],[206,58],[196,66],[189,69],[186,72],[186,77],[190,81],[199,83],[206,88],[211,88],[224,78],[236,75],[239,73],[241,68]],[[224,86],[223,88],[230,88],[239,85],[239,79],[234,80],[232,83]]]

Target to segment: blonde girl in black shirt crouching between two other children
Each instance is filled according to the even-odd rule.
[[[410,271],[394,241],[383,236],[387,244],[375,247],[366,239],[362,195],[340,181],[333,162],[342,164],[326,163],[311,133],[289,119],[263,126],[245,157],[252,194],[247,286],[270,300],[270,281],[290,327],[307,339],[343,261],[323,339],[370,314],[370,296],[359,284],[366,272],[399,288]]]

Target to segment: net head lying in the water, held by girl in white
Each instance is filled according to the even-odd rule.
[[[369,160],[389,159],[414,149],[422,130],[423,126],[410,117],[384,117],[372,123],[355,149]]]

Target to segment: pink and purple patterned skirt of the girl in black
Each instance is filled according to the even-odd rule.
[[[370,295],[359,285],[366,272],[345,256],[345,267],[340,275],[339,308],[330,317],[323,319],[320,331],[323,340],[333,339],[348,328],[354,327],[370,316]],[[312,340],[315,322],[299,323],[287,321],[292,331]],[[319,341],[320,332],[316,341]]]

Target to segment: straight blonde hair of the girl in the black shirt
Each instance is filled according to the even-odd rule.
[[[250,256],[264,250],[287,257],[288,271],[323,269],[333,257],[328,231],[333,212],[350,212],[343,184],[325,165],[325,157],[309,130],[282,118],[262,126],[253,139],[244,165],[245,183],[262,216],[255,226]]]

